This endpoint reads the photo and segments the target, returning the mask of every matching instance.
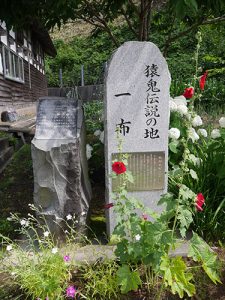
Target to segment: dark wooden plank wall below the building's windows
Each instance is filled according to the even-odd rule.
[[[44,74],[30,65],[31,88],[29,83],[28,62],[24,61],[25,83],[4,78],[0,74],[0,109],[4,106],[24,107],[36,102],[39,97],[47,96],[47,80]]]

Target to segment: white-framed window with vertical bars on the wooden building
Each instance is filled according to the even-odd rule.
[[[23,59],[5,46],[2,50],[5,78],[24,82]]]

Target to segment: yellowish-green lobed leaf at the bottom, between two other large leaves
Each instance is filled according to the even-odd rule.
[[[195,294],[195,286],[190,282],[193,275],[187,272],[187,267],[181,257],[163,256],[160,270],[163,271],[166,287],[170,286],[173,294],[178,293],[180,298],[183,298],[184,292],[189,297]]]

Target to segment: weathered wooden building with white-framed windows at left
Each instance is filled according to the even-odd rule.
[[[45,54],[54,57],[56,50],[39,24],[15,32],[0,21],[0,112],[26,107],[48,94]]]

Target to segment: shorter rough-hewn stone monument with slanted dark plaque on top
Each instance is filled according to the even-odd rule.
[[[50,230],[60,235],[62,218],[76,215],[86,224],[91,199],[81,102],[40,98],[32,140],[34,204],[41,206]]]

